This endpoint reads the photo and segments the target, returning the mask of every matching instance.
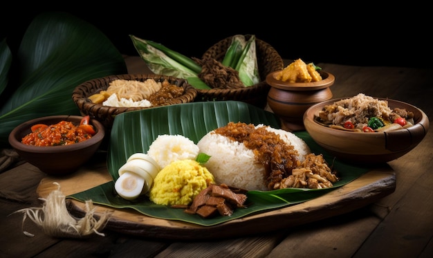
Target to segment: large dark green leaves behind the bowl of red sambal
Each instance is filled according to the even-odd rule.
[[[9,146],[10,131],[26,120],[80,114],[72,100],[75,86],[124,73],[125,60],[100,30],[64,12],[38,15],[12,65],[10,49],[0,44],[0,146]]]

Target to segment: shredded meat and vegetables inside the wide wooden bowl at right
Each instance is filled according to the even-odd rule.
[[[391,110],[387,100],[359,93],[325,106],[315,120],[335,129],[383,132],[411,127],[414,113],[399,108]]]

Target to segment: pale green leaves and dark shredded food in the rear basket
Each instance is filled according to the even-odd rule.
[[[186,79],[196,89],[235,89],[260,82],[255,35],[248,40],[234,35],[221,62],[186,57],[162,44],[130,37],[152,72]]]

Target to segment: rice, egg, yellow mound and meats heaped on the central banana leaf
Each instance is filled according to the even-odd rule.
[[[140,167],[137,163],[129,168],[126,175],[129,183],[122,185],[120,191],[130,187],[134,194],[129,199],[145,194],[156,204],[185,208],[185,212],[203,217],[214,216],[216,211],[230,216],[235,208],[243,207],[245,201],[241,198],[242,201],[234,202],[233,196],[248,190],[320,189],[332,187],[339,180],[323,156],[312,154],[308,145],[295,134],[242,122],[229,122],[210,131],[197,144],[185,136],[158,136],[147,154],[133,154],[137,155],[145,164]],[[149,166],[149,163],[157,165]],[[161,170],[148,178],[145,172],[155,167]],[[125,174],[120,171],[123,168],[119,169],[119,174]],[[146,182],[151,187],[143,190]],[[120,196],[122,194],[125,193],[120,192]],[[196,196],[201,196],[201,200],[194,203]],[[225,205],[219,206],[224,202]],[[199,211],[201,205],[207,207]]]

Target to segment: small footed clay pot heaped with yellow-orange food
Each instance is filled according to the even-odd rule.
[[[268,106],[285,127],[291,131],[304,130],[304,112],[313,104],[330,100],[333,95],[329,87],[334,82],[333,74],[297,59],[282,71],[267,75]]]

